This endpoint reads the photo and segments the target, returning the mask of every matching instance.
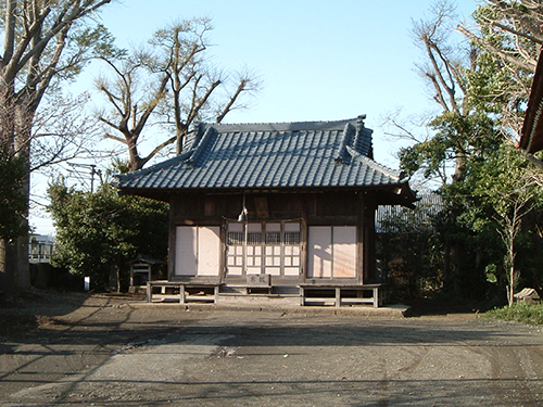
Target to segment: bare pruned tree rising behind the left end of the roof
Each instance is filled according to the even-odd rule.
[[[150,41],[152,51],[135,51],[123,61],[104,59],[116,79],[98,81],[112,107],[100,119],[122,133],[105,131],[105,137],[127,145],[130,171],[172,144],[179,154],[195,122],[220,123],[232,110],[244,106],[239,102],[242,94],[257,89],[249,71],[227,75],[209,63],[206,34],[211,29],[209,18],[182,21],[156,31]],[[142,132],[156,124],[173,127],[174,135],[162,138],[142,157],[138,150]]]

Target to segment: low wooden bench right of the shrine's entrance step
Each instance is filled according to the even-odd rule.
[[[300,301],[301,305],[310,304],[320,304],[326,302],[332,302],[336,307],[340,307],[345,304],[372,304],[374,308],[382,306],[387,295],[387,284],[300,284]],[[334,296],[329,297],[307,297],[307,291],[332,291]],[[345,291],[355,292],[356,296],[343,296],[342,293]],[[371,296],[364,296],[364,292],[371,292]]]

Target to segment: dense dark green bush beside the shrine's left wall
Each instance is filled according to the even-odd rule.
[[[90,277],[94,289],[126,287],[129,262],[138,255],[165,259],[168,205],[137,196],[118,196],[114,187],[96,192],[67,187],[62,179],[49,187],[49,211],[56,226],[52,264],[72,275]]]

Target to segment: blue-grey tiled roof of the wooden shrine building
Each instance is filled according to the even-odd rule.
[[[374,160],[364,116],[339,122],[200,124],[185,152],[118,175],[127,190],[288,189],[406,183]]]

